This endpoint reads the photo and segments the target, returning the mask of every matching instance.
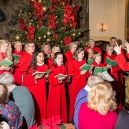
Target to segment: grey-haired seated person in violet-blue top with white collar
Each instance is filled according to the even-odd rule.
[[[80,110],[80,106],[82,103],[87,102],[87,96],[88,92],[90,92],[91,88],[94,87],[94,85],[98,82],[104,82],[103,78],[98,74],[93,74],[88,78],[87,85],[80,90],[76,97],[75,105],[74,105],[74,123],[76,126],[76,129],[78,129],[78,114]]]

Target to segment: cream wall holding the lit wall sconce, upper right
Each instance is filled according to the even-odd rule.
[[[125,0],[89,0],[90,38],[109,41],[114,36],[124,41]],[[104,23],[106,31],[100,31]]]

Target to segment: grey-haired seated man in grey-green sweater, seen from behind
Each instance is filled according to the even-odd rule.
[[[24,86],[16,86],[13,76],[8,72],[0,75],[0,83],[7,85],[11,99],[15,102],[24,117],[23,129],[33,126],[35,124],[35,107],[29,90]]]

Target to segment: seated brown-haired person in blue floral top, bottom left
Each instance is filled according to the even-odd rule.
[[[6,85],[0,83],[0,114],[8,122],[11,129],[19,129],[23,117],[13,101],[9,101],[9,92]]]

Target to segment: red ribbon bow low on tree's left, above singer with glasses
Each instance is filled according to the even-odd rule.
[[[35,26],[28,26],[28,33],[26,35],[26,39],[29,41],[34,41],[34,32],[35,32]]]

